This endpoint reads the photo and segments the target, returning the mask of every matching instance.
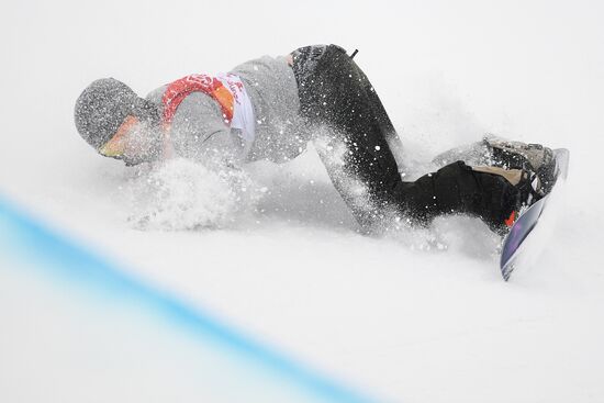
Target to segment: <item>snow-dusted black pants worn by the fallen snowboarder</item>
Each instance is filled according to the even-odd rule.
[[[505,180],[458,161],[403,182],[389,144],[399,137],[374,88],[339,46],[292,53],[301,114],[320,133],[316,149],[359,224],[373,231],[394,212],[427,224],[443,213],[470,213],[496,230],[517,204]]]

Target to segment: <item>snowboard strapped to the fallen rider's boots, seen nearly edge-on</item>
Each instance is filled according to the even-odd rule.
[[[526,239],[538,225],[543,214],[547,214],[547,204],[551,194],[558,190],[560,182],[567,179],[570,152],[566,148],[558,148],[553,150],[553,156],[556,158],[556,184],[553,189],[522,213],[503,240],[500,269],[505,281],[510,280],[510,276],[516,268],[523,255],[523,246]]]

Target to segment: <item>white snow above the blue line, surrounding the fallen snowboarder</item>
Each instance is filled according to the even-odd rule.
[[[602,402],[602,15],[585,0],[11,2],[0,15],[0,193],[385,400]],[[485,133],[571,150],[566,200],[530,270],[505,283],[499,239],[471,219],[358,234],[312,147],[220,178],[184,160],[125,168],[74,126],[76,98],[99,77],[145,94],[315,43],[360,51],[411,175]]]

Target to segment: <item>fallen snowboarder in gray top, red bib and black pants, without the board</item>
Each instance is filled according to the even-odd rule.
[[[504,234],[521,208],[551,188],[549,148],[492,139],[444,154],[439,160],[448,165],[403,181],[400,139],[353,56],[336,45],[302,47],[224,75],[187,76],[146,99],[113,78],[99,79],[76,102],[76,126],[101,155],[126,165],[171,156],[223,166],[283,163],[313,141],[368,232],[392,216],[427,225],[462,213]]]

